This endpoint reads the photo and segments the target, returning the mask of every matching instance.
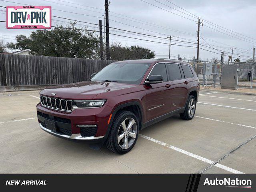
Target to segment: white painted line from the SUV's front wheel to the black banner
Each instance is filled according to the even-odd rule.
[[[213,163],[214,163],[214,161],[212,161],[212,160],[209,160],[209,159],[206,159],[206,158],[204,158],[204,157],[198,156],[198,155],[196,155],[196,154],[190,153],[190,152],[185,151],[185,150],[183,150],[183,149],[174,147],[174,146],[169,145],[169,144],[167,144],[167,143],[164,143],[164,142],[155,140],[155,139],[153,139],[153,138],[151,138],[151,137],[148,137],[148,136],[145,136],[145,135],[142,135],[142,134],[139,134],[139,136],[142,137],[142,138],[144,138],[144,139],[147,139],[147,140],[150,140],[150,141],[152,141],[152,142],[155,142],[155,143],[157,143],[157,144],[160,144],[160,145],[162,145],[162,146],[166,146],[166,147],[168,147],[168,148],[170,148],[170,149],[173,149],[173,150],[175,150],[175,151],[178,151],[178,152],[180,152],[180,153],[183,153],[183,154],[185,154],[185,155],[188,155],[188,156],[190,156],[190,157],[196,158],[196,159],[198,159],[198,160],[200,160],[200,161],[206,162],[206,163],[208,163],[208,164],[213,164]],[[218,167],[218,168],[221,168],[221,169],[224,169],[224,170],[226,170],[226,171],[232,172],[232,173],[237,173],[237,174],[243,173],[243,172],[240,172],[240,171],[238,171],[238,170],[234,170],[234,169],[232,169],[232,168],[230,168],[230,167],[227,167],[227,166],[224,166],[224,165],[222,165],[222,164],[219,164],[219,163],[216,163],[214,166],[216,166],[216,167]]]

